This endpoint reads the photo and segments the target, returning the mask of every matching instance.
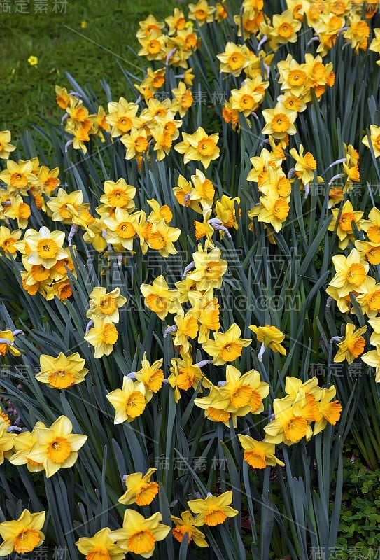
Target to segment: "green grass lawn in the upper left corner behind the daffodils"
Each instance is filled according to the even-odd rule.
[[[14,12],[15,2],[10,5]],[[0,130],[10,130],[15,140],[31,125],[41,125],[41,116],[59,123],[55,85],[69,87],[66,72],[92,87],[105,105],[101,79],[115,99],[129,95],[118,63],[143,76],[142,63],[129,49],[139,48],[139,21],[149,13],[162,20],[175,5],[174,0],[69,0],[66,13],[53,13],[49,1],[48,13],[36,14],[30,1],[29,14],[0,13]],[[38,57],[37,66],[27,62],[30,55]]]

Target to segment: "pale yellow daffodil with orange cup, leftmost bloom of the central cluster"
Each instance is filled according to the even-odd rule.
[[[179,290],[169,290],[164,276],[158,276],[151,286],[141,284],[140,290],[145,297],[146,307],[154,311],[160,319],[164,319],[168,313],[177,313],[181,309],[181,304],[178,302]]]

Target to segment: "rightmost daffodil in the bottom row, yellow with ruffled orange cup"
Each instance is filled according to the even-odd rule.
[[[202,500],[190,500],[188,506],[193,513],[197,514],[195,527],[208,525],[215,527],[225,522],[227,517],[235,517],[239,512],[230,506],[232,502],[232,490],[220,496],[213,496],[211,493]]]

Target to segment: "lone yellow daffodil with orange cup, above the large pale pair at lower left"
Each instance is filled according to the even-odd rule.
[[[67,358],[62,352],[57,358],[42,354],[40,365],[41,371],[36,374],[36,379],[55,389],[66,389],[82,383],[88,373],[87,368],[84,367],[85,360],[80,358],[78,352]]]

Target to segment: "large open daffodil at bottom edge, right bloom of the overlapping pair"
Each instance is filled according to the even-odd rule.
[[[162,524],[161,521],[160,512],[145,519],[134,510],[125,510],[122,528],[112,531],[111,537],[125,552],[150,558],[155,552],[155,543],[164,540],[170,531],[170,527]]]

